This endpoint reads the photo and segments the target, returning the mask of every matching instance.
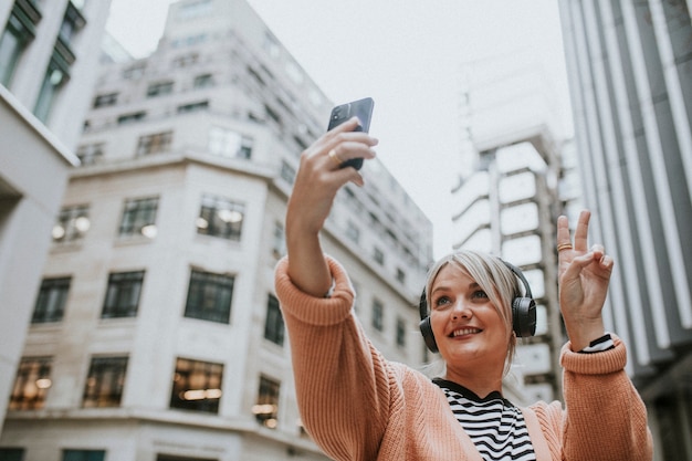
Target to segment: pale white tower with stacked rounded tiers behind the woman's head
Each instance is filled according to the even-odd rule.
[[[453,193],[455,249],[493,253],[522,269],[537,305],[536,334],[520,339],[507,394],[517,404],[560,399],[555,220],[577,196],[564,182],[559,114],[541,65],[526,52],[463,70],[462,135],[470,165]],[[573,177],[573,176],[572,176]],[[510,386],[511,385],[511,386]]]

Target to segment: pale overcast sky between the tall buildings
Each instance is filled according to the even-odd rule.
[[[175,0],[113,0],[106,29],[134,56],[153,52]],[[451,251],[469,63],[535,56],[569,113],[556,0],[248,0],[335,104],[370,96],[377,154]],[[325,121],[326,124],[326,121]],[[566,132],[570,118],[565,115]],[[364,167],[367,180],[367,164]]]

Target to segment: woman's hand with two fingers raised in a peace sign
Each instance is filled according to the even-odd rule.
[[[572,350],[584,349],[605,334],[602,308],[612,273],[612,258],[604,247],[588,248],[589,211],[581,211],[574,245],[567,217],[557,219],[557,281],[559,306]]]

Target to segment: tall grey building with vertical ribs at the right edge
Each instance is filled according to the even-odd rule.
[[[656,458],[692,459],[689,1],[560,1],[584,197]]]

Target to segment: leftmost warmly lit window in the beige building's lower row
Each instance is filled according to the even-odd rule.
[[[39,410],[45,404],[51,387],[51,357],[22,358],[10,396],[10,410]]]

